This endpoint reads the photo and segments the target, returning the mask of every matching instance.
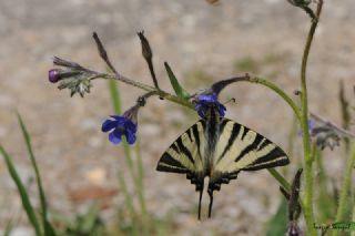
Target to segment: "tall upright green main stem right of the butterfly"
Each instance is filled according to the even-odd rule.
[[[304,216],[307,225],[307,230],[310,235],[317,235],[314,224],[314,212],[313,212],[313,157],[312,157],[312,148],[311,148],[311,137],[308,132],[308,99],[307,99],[307,84],[306,84],[306,71],[307,71],[307,62],[308,55],[311,51],[311,45],[313,42],[313,37],[315,30],[318,24],[320,16],[322,12],[323,0],[318,1],[316,18],[313,19],[311,29],[307,35],[306,44],[304,48],[303,57],[302,57],[302,65],[301,65],[301,88],[302,88],[302,120],[301,127],[303,133],[303,150],[304,150],[304,162],[305,162],[305,208]]]

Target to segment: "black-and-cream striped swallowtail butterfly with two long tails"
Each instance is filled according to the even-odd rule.
[[[200,192],[199,219],[204,178],[209,176],[209,218],[213,192],[235,179],[241,171],[258,171],[287,165],[284,151],[263,135],[222,117],[210,105],[204,117],[185,131],[161,156],[156,171],[186,174]],[[224,114],[224,113],[223,113]]]

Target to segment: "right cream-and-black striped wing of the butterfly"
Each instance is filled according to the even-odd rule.
[[[287,165],[284,151],[263,135],[229,119],[221,119],[220,138],[213,156],[209,194],[236,178],[241,171],[257,171]]]

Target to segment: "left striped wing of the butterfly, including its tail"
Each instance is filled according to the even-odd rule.
[[[156,171],[186,174],[191,184],[200,192],[199,219],[201,215],[201,199],[203,193],[203,179],[205,173],[205,145],[204,121],[199,121],[185,131],[178,140],[163,153]]]

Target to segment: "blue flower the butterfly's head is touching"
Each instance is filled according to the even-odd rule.
[[[219,102],[215,93],[200,94],[197,96],[195,110],[201,117],[206,117],[206,113],[211,106],[214,106],[219,111],[221,117],[224,116],[226,107]]]

